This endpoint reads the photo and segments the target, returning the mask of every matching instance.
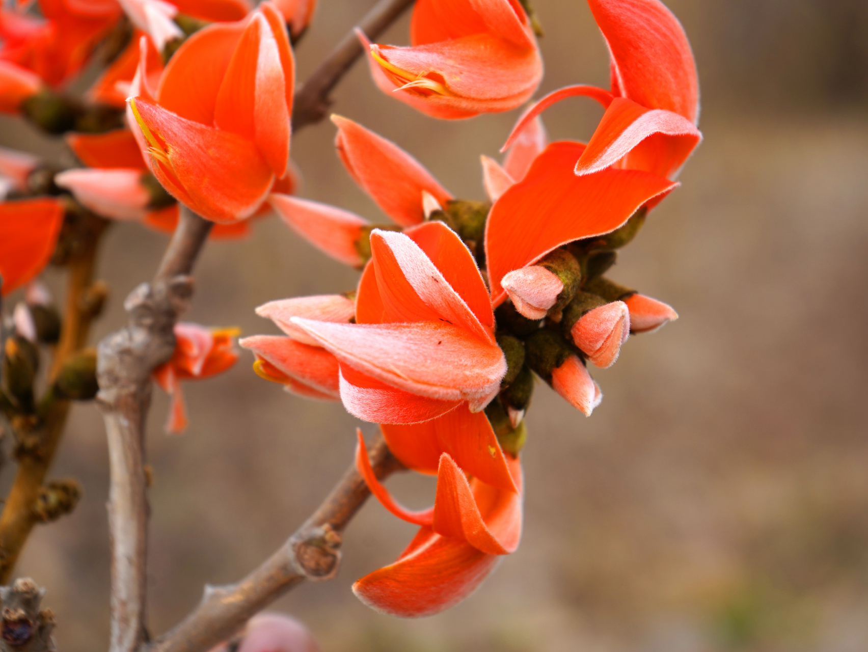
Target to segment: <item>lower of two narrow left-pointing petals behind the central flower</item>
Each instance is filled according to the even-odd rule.
[[[241,339],[239,345],[290,378],[332,398],[339,397],[338,360],[319,346],[301,344],[281,335],[253,335]]]

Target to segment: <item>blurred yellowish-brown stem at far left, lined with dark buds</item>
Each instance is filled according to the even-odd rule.
[[[87,343],[90,325],[102,308],[102,286],[94,284],[96,253],[108,221],[95,218],[76,234],[76,251],[68,263],[66,306],[61,339],[49,371],[49,386],[63,364]],[[57,445],[66,426],[69,401],[49,395],[44,417],[30,435],[26,446],[18,446],[15,480],[0,514],[0,583],[9,583],[18,555],[30,530],[40,522],[34,507],[45,476],[54,461]]]

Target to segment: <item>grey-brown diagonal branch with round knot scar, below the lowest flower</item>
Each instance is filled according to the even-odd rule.
[[[380,479],[404,468],[382,437],[372,447],[371,462]],[[208,587],[199,607],[143,652],[205,652],[296,584],[331,579],[340,561],[341,533],[370,495],[351,464],[312,517],[259,568],[237,584]]]

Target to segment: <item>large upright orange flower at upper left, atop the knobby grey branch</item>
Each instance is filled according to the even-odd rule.
[[[196,32],[169,61],[154,98],[130,101],[148,167],[208,220],[250,217],[289,170],[293,52],[271,3],[240,23]],[[141,79],[147,78],[141,74]]]

